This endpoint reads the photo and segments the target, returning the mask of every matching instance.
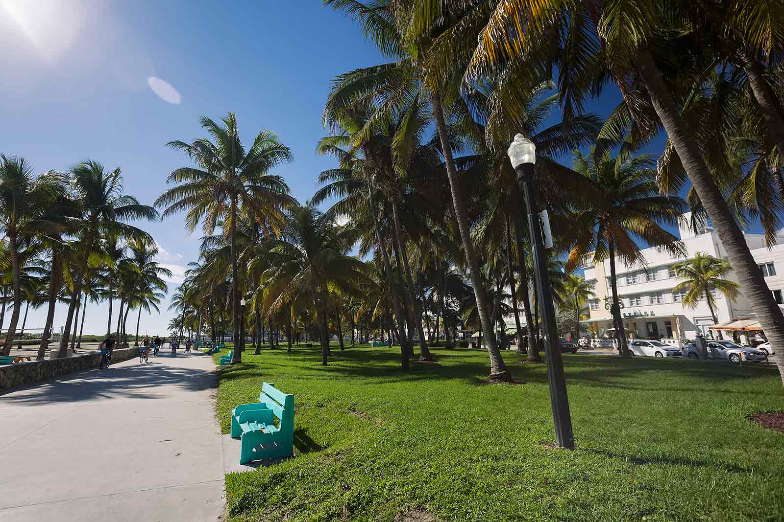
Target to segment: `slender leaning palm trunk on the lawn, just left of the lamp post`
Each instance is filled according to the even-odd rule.
[[[479,258],[474,250],[474,243],[471,242],[471,229],[468,224],[468,214],[466,203],[463,198],[463,190],[460,188],[460,180],[455,170],[455,160],[452,158],[452,147],[449,145],[444,111],[441,109],[441,97],[433,93],[431,99],[433,113],[436,119],[436,129],[438,137],[441,139],[441,153],[444,154],[446,172],[449,178],[449,188],[452,190],[452,204],[455,207],[455,217],[457,226],[460,230],[460,238],[463,239],[463,249],[470,266],[471,283],[474,286],[474,296],[477,300],[477,311],[482,330],[487,337],[487,350],[490,357],[490,379],[492,380],[511,380],[512,376],[506,369],[506,365],[501,358],[501,352],[492,337],[490,318],[488,317],[488,301],[485,286],[482,286],[479,272]]]

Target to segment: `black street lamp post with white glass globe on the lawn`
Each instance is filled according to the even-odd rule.
[[[564,360],[561,357],[561,346],[558,341],[550,276],[547,274],[547,260],[542,243],[539,214],[534,210],[533,177],[536,146],[530,139],[518,134],[514,136],[514,142],[506,153],[512,162],[514,171],[517,172],[517,182],[523,189],[525,206],[528,207],[528,229],[531,231],[536,291],[539,294],[539,306],[542,311],[544,351],[547,358],[547,380],[550,382],[550,404],[553,405],[555,438],[561,448],[574,449],[575,436],[572,434],[572,416],[569,413],[569,401],[566,397]],[[530,328],[528,330],[530,334]]]

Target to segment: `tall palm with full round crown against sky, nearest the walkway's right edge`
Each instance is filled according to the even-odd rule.
[[[281,208],[292,203],[289,186],[270,170],[292,160],[289,147],[277,135],[261,131],[246,151],[237,128],[237,118],[229,113],[223,124],[201,117],[201,128],[212,138],[195,139],[191,143],[174,141],[168,145],[181,150],[196,167],[180,167],[169,175],[167,183],[177,184],[155,201],[164,208],[163,217],[187,211],[186,227],[190,232],[199,222],[211,235],[219,221],[229,237],[231,249],[231,310],[234,338],[239,335],[240,273],[237,265],[235,229],[239,213],[245,211],[265,232],[277,232],[281,224]],[[228,227],[228,230],[226,228]],[[241,360],[241,351],[234,350],[234,360]]]

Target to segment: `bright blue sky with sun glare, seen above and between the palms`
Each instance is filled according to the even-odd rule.
[[[333,166],[314,153],[330,81],[385,61],[357,25],[318,0],[0,0],[0,46],[0,152],[24,156],[38,171],[86,158],[120,166],[126,193],[149,204],[169,172],[187,164],[165,143],[201,137],[198,117],[229,111],[245,142],[264,128],[278,133],[295,158],[278,174],[307,200],[318,172]],[[604,117],[618,99],[608,88],[586,110]],[[182,217],[140,225],[176,286],[198,257],[200,231],[189,235]],[[142,315],[142,333],[165,331],[168,304]],[[89,304],[85,333],[105,331],[107,310]],[[31,311],[27,326],[44,319],[43,309]]]

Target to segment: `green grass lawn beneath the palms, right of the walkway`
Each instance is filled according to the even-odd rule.
[[[543,364],[505,353],[526,383],[488,384],[484,351],[434,353],[408,373],[367,346],[221,367],[223,433],[265,380],[296,403],[294,458],[227,475],[231,520],[784,520],[784,434],[746,419],[784,408],[774,367],[564,355],[568,452]]]

